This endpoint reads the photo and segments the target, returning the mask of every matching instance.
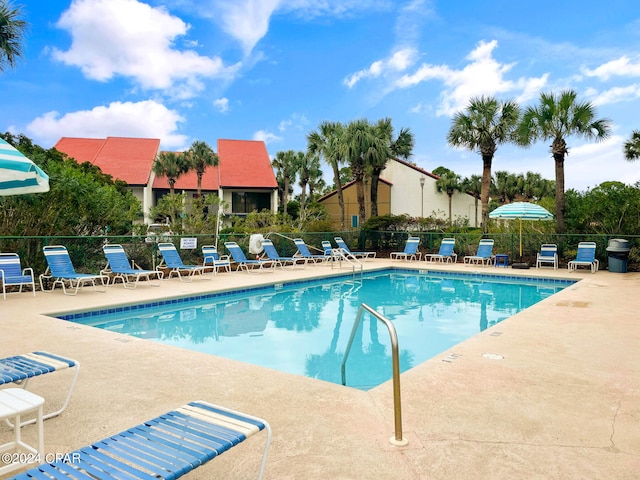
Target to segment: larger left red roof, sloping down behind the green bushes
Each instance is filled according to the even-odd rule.
[[[100,167],[103,173],[128,185],[146,185],[160,148],[160,139],[62,137],[54,147],[78,163],[90,162]]]

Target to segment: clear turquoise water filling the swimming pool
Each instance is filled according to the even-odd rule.
[[[386,270],[58,317],[340,384],[362,303],[394,323],[406,371],[572,283]],[[346,370],[364,390],[391,378],[389,334],[367,313]]]

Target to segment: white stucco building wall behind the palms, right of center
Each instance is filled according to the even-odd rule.
[[[391,213],[406,213],[413,217],[428,217],[434,212],[441,218],[449,218],[449,197],[438,192],[436,179],[425,170],[396,160],[389,160],[381,178],[392,183]],[[420,187],[424,178],[424,190]],[[475,200],[471,195],[456,192],[453,195],[451,213],[453,218],[466,217],[475,226]]]

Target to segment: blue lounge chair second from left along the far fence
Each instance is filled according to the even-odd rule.
[[[47,290],[44,288],[43,280],[52,279],[53,284],[51,290],[56,288],[56,285],[62,286],[62,291],[65,295],[75,295],[78,293],[86,283],[93,285],[93,289],[96,291],[106,292],[107,285],[109,284],[109,277],[103,274],[90,274],[90,273],[77,273],[69,257],[67,248],[62,245],[48,245],[42,248],[44,256],[47,260],[47,270],[45,273],[40,274],[40,288],[43,292]],[[96,282],[99,281],[102,285],[102,290],[98,290]],[[67,292],[67,285],[73,292]]]

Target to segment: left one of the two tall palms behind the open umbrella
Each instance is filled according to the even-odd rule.
[[[491,188],[491,163],[498,145],[514,141],[514,131],[520,119],[520,107],[513,101],[501,101],[495,97],[475,97],[469,102],[466,113],[453,117],[447,135],[449,145],[478,150],[482,156],[482,228],[487,231],[489,190]]]

